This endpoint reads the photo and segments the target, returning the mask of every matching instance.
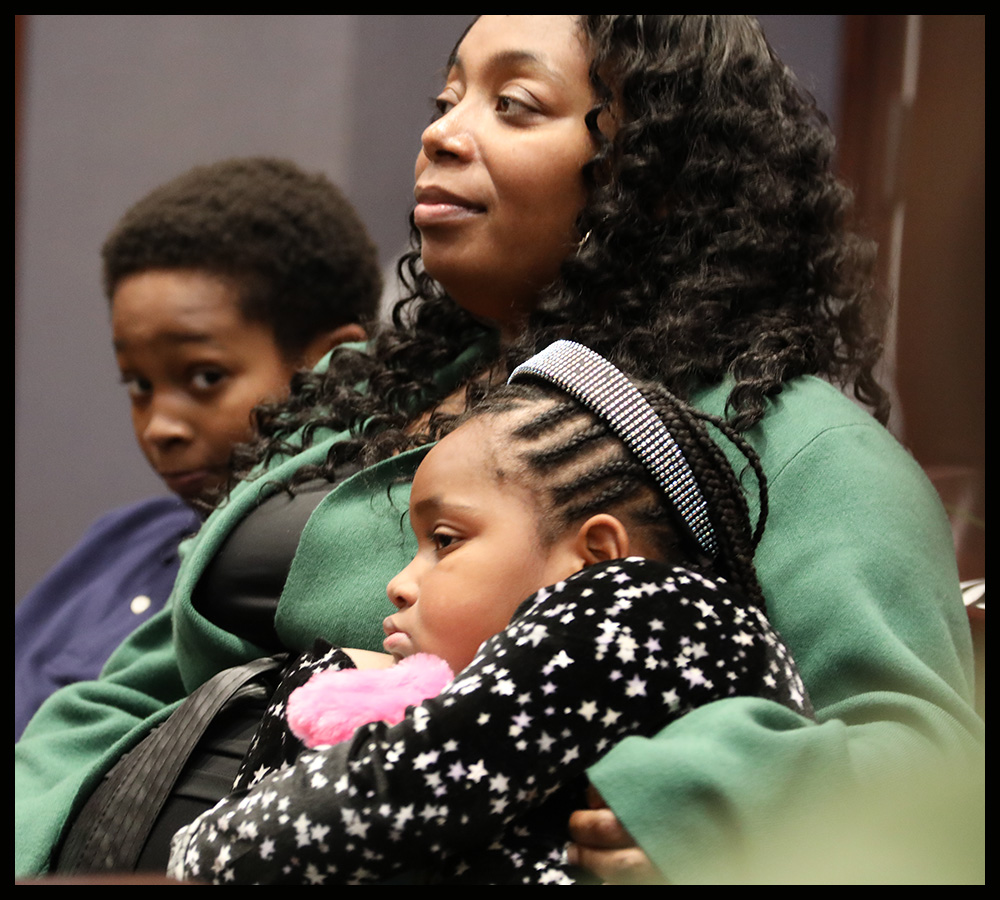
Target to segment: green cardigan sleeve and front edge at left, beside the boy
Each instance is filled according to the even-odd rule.
[[[323,446],[309,452],[315,456]],[[286,461],[275,477],[300,462]],[[241,486],[182,544],[180,571],[166,607],[125,640],[100,678],[56,691],[28,724],[14,750],[18,875],[48,870],[66,822],[94,785],[190,691],[216,672],[262,655],[250,642],[208,623],[191,605],[191,591],[207,561],[256,502],[258,484]]]

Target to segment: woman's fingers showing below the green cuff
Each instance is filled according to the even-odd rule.
[[[665,884],[663,874],[593,786],[587,788],[587,803],[590,809],[578,809],[569,817],[569,861],[605,884]]]

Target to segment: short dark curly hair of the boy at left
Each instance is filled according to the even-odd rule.
[[[370,324],[382,292],[377,250],[351,204],[324,175],[282,159],[191,169],[131,207],[101,252],[109,300],[149,269],[231,280],[244,316],[270,326],[288,359],[323,331]]]

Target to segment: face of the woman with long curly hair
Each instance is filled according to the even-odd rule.
[[[471,313],[516,332],[579,240],[595,145],[574,16],[483,16],[459,45],[417,157],[427,272]]]

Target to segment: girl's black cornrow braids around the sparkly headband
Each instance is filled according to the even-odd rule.
[[[611,513],[642,531],[665,560],[681,559],[735,584],[761,609],[765,602],[753,563],[767,518],[767,479],[747,442],[724,420],[700,412],[666,389],[636,385],[653,407],[694,473],[705,496],[718,552],[708,557],[647,468],[588,408],[558,388],[542,383],[492,391],[456,423],[484,415],[514,415],[505,444],[515,473],[539,499],[543,540],[598,513]],[[707,425],[730,440],[746,458],[757,481],[760,514],[750,524],[740,480]]]

